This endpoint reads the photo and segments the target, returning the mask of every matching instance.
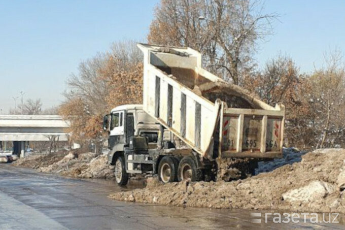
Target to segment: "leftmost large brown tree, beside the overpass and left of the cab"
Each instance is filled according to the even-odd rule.
[[[79,73],[67,80],[66,98],[59,108],[59,114],[70,120],[68,132],[81,146],[103,140],[100,120],[107,111],[109,87],[100,78],[100,72],[107,63],[109,54],[98,53],[95,57],[79,64]]]

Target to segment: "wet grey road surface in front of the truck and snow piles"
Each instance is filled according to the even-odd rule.
[[[68,179],[0,165],[0,229],[344,229],[341,224],[252,223],[251,211],[116,202],[133,189],[113,181]],[[264,214],[263,214],[264,216]]]

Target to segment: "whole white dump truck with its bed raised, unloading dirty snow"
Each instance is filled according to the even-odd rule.
[[[158,174],[164,183],[217,180],[221,160],[282,157],[283,105],[272,107],[206,71],[196,50],[137,46],[144,53],[143,104],[118,106],[103,119],[118,184],[136,174]]]

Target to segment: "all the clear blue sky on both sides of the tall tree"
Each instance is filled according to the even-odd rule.
[[[58,105],[80,61],[114,41],[145,41],[158,2],[0,0],[0,109],[7,113],[21,90],[24,100]],[[259,66],[281,52],[310,72],[321,66],[324,51],[345,52],[345,1],[266,0],[265,11],[281,17],[260,45]]]

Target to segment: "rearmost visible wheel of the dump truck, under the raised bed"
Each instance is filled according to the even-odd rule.
[[[185,156],[179,163],[178,169],[179,181],[190,180],[200,181],[202,180],[202,170],[197,169],[195,160],[192,156]]]

